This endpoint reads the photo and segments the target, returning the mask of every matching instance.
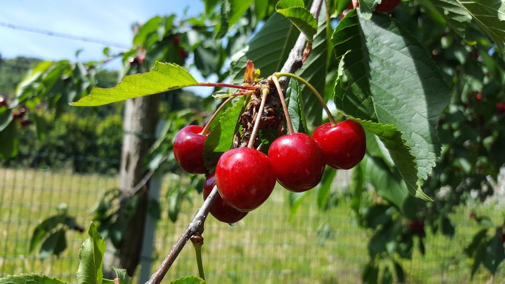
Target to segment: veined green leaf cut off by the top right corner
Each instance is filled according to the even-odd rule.
[[[502,0],[455,0],[505,53],[505,2]]]

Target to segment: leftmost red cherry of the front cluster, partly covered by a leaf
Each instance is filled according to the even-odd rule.
[[[189,125],[181,129],[174,141],[174,157],[177,164],[188,173],[206,173],[204,166],[204,144],[207,135],[200,134],[204,130],[198,125]]]

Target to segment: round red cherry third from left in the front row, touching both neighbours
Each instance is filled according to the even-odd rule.
[[[308,191],[323,176],[323,150],[314,138],[305,133],[292,133],[275,139],[268,150],[268,157],[277,180],[289,191]]]

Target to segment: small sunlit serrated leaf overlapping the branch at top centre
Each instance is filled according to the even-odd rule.
[[[305,8],[303,0],[279,0],[275,11],[288,18],[305,35],[307,41],[312,42],[312,38],[317,32],[317,20]]]

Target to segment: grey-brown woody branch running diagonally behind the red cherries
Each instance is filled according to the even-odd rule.
[[[321,11],[323,1],[324,0],[314,0],[314,2],[312,3],[310,11],[316,19],[319,18],[319,12]],[[296,70],[301,68],[303,64],[302,54],[304,53],[306,44],[307,40],[305,36],[302,33],[300,33],[298,39],[296,40],[295,45],[293,46],[291,52],[289,53],[288,59],[286,60],[284,66],[281,69],[281,72],[294,73]],[[289,82],[289,77],[282,77],[279,80],[279,82],[280,85],[283,86],[283,88],[285,89]],[[198,210],[196,216],[184,230],[179,240],[177,240],[177,243],[172,247],[170,253],[167,255],[165,260],[163,260],[158,270],[156,270],[153,276],[151,276],[151,278],[147,282],[145,282],[146,284],[160,284],[160,282],[163,280],[163,277],[165,277],[165,274],[167,274],[168,270],[170,269],[170,266],[172,265],[172,263],[174,263],[175,259],[182,251],[182,248],[184,247],[186,242],[191,238],[191,236],[193,236],[195,233],[199,233],[201,235],[204,232],[205,219],[207,218],[209,210],[211,209],[212,205],[214,205],[214,203],[216,202],[218,196],[219,196],[218,188],[217,186],[214,186],[211,194],[207,197],[204,204]]]

